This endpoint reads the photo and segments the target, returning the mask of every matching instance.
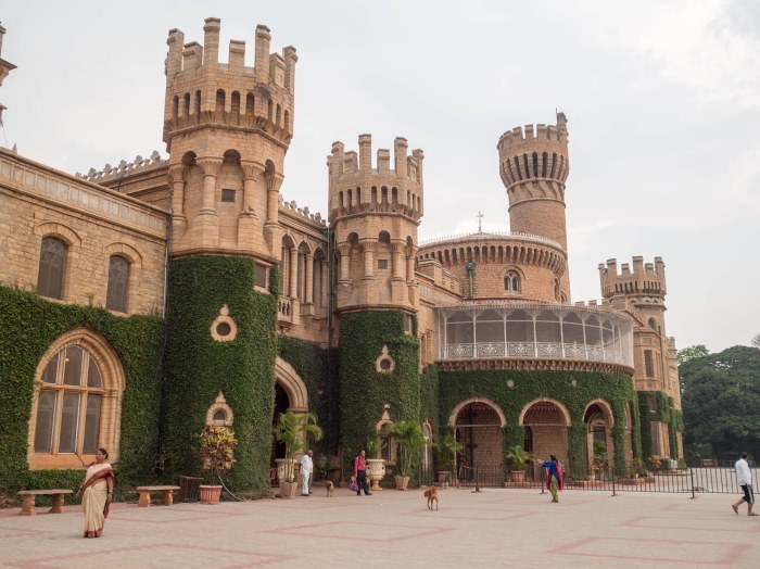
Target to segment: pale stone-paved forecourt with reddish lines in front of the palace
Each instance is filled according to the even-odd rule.
[[[78,507],[0,510],[0,566],[122,567],[760,567],[760,517],[733,494],[421,490],[357,497],[115,504],[103,536],[81,538]]]

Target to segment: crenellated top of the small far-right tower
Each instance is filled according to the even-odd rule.
[[[654,263],[645,264],[644,257],[634,256],[632,266],[628,263],[620,265],[620,273],[617,260],[609,258],[607,263],[599,263],[599,280],[605,299],[625,294],[662,300],[667,294],[662,257],[655,257]]]

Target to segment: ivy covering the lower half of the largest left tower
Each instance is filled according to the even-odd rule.
[[[269,494],[279,274],[270,273],[271,294],[254,291],[253,274],[253,260],[243,257],[201,255],[170,264],[162,458],[167,479],[201,473],[195,435],[221,392],[238,439],[230,489],[264,496]],[[225,305],[237,337],[218,342],[211,326]]]

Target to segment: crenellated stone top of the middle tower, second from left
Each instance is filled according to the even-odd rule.
[[[409,154],[406,139],[398,137],[393,156],[389,149],[379,149],[373,166],[372,136],[359,135],[358,146],[357,153],[346,151],[343,142],[332,143],[327,159],[330,222],[362,212],[402,214],[419,220],[425,213],[422,151]]]

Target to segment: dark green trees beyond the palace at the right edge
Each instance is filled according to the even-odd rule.
[[[737,345],[692,357],[679,371],[684,444],[760,457],[760,350]]]

